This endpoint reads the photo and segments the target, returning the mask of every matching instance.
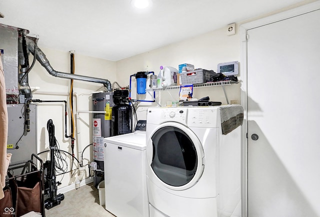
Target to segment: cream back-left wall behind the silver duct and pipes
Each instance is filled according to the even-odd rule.
[[[40,47],[51,66],[56,71],[70,72],[70,53],[57,51],[53,49],[47,49]],[[32,61],[32,55],[30,55],[30,61]],[[104,59],[93,58],[89,56],[84,56],[74,53],[75,59],[75,74],[81,74],[86,76],[104,78],[110,80],[110,82],[115,81],[115,71],[116,64],[113,61],[108,61]],[[67,110],[67,135],[70,135],[70,109],[69,109],[69,90],[70,90],[70,80],[64,78],[57,78],[50,75],[37,61],[34,67],[29,73],[29,85],[40,87],[33,93],[32,99],[41,100],[66,100],[68,103]],[[78,98],[78,110],[91,110],[91,93],[96,90],[102,90],[102,84],[85,82],[80,80],[73,81],[73,92],[76,93]],[[74,111],[76,109],[76,98],[74,97]],[[80,113],[79,114],[79,125],[77,127],[76,140],[74,153],[75,157],[80,160],[78,151],[82,151],[83,148],[92,142],[91,138],[91,114]],[[47,150],[49,146],[48,142],[48,132],[46,129],[46,123],[48,119],[53,120],[55,127],[55,137],[59,143],[60,149],[71,153],[71,139],[64,137],[64,104],[63,103],[38,103],[37,106],[37,146],[38,152]],[[78,145],[81,145],[79,150]],[[91,148],[87,148],[83,157],[91,157]],[[43,153],[39,155],[44,161],[46,154]],[[67,154],[67,162],[70,165],[71,161],[69,155]],[[84,161],[86,164],[87,161]],[[73,164],[75,168],[77,163]],[[70,167],[68,167],[68,170]],[[86,171],[86,176],[88,176],[88,171]],[[60,181],[62,175],[57,176],[57,180]],[[74,178],[70,180],[70,173],[64,175],[62,184],[60,187],[66,186],[68,184],[74,183]]]

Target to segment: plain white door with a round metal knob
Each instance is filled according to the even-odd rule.
[[[320,10],[247,34],[248,216],[320,216]]]

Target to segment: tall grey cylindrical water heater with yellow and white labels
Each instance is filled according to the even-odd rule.
[[[92,144],[93,160],[96,162],[96,171],[93,179],[94,186],[104,179],[104,146],[103,138],[110,136],[111,112],[113,92],[92,93],[92,110],[100,111],[92,115]],[[105,111],[105,113],[104,113]]]

